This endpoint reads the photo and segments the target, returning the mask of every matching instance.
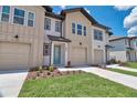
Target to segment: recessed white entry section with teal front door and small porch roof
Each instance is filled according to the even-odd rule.
[[[67,65],[68,43],[71,40],[64,38],[63,17],[51,11],[45,12],[43,44],[43,64],[54,66]]]

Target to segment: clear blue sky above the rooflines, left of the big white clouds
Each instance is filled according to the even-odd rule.
[[[53,11],[59,13],[62,9],[76,8],[77,6],[54,6]],[[110,27],[114,34],[127,35],[128,28],[124,28],[124,20],[130,14],[133,8],[114,6],[82,6],[99,23]]]

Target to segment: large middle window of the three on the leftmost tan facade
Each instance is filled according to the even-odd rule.
[[[24,24],[24,10],[14,9],[13,23]]]

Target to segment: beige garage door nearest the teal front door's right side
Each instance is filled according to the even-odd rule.
[[[72,52],[72,64],[84,65],[86,64],[86,48],[73,48]]]

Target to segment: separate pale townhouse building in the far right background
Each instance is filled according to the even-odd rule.
[[[137,37],[110,38],[109,43],[114,47],[109,53],[110,59],[120,62],[137,61]]]

